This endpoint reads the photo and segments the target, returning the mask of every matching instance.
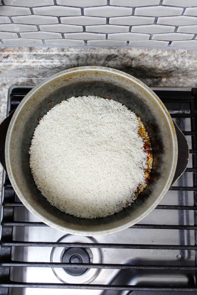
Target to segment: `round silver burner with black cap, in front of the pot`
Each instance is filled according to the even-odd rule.
[[[65,235],[57,242],[97,243],[92,237]],[[91,248],[91,247],[90,247]],[[54,247],[51,251],[51,262],[63,263],[102,263],[99,248]],[[56,277],[63,283],[89,283],[100,272],[97,268],[52,268]]]

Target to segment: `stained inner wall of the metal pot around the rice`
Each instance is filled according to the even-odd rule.
[[[135,83],[123,82],[120,81],[121,79],[117,80],[116,77],[113,80],[110,75],[108,75],[108,79],[101,77],[95,75],[88,78],[87,74],[83,73],[78,76],[78,79],[73,76],[70,79],[57,76],[54,81],[46,83],[24,104],[11,135],[10,161],[20,193],[25,196],[32,208],[44,218],[71,230],[107,232],[114,227],[136,220],[157,200],[165,187],[172,166],[173,143],[169,124],[165,114],[151,95],[136,86]],[[153,168],[148,186],[130,207],[110,217],[76,218],[51,206],[37,189],[29,167],[28,151],[33,132],[38,124],[38,117],[43,117],[49,109],[64,98],[83,95],[114,99],[126,105],[140,117],[151,141]],[[53,102],[48,104],[49,101]],[[48,157],[50,158],[50,155]],[[80,203],[76,206],[80,206]]]

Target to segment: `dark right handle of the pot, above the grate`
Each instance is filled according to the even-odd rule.
[[[178,159],[177,159],[177,167],[175,171],[174,178],[172,180],[172,184],[183,174],[185,171],[188,160],[189,160],[189,146],[188,142],[183,135],[183,133],[180,131],[179,127],[174,123],[176,135],[177,135],[177,141],[178,141]],[[171,185],[172,185],[171,184]]]

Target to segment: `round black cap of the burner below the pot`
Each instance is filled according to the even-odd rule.
[[[68,248],[62,255],[63,263],[90,263],[90,257],[84,248]],[[71,276],[80,276],[85,273],[88,268],[64,268]]]

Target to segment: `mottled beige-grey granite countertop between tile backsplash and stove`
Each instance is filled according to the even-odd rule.
[[[197,86],[197,54],[194,49],[1,47],[0,60],[1,122],[6,117],[10,86],[35,86],[68,68],[85,65],[116,68],[150,87]],[[0,166],[0,181],[1,176]]]

